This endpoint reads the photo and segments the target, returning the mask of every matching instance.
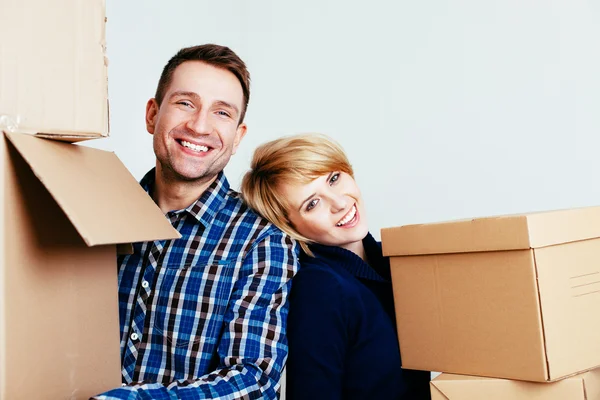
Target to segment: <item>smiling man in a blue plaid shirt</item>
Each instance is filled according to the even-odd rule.
[[[148,101],[156,167],[141,184],[182,237],[119,259],[123,387],[98,399],[277,397],[297,245],[223,174],[249,80],[229,48],[185,48]]]

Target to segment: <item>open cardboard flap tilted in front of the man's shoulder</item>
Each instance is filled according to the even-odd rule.
[[[115,154],[5,135],[88,246],[180,237]]]

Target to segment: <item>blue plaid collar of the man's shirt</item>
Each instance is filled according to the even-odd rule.
[[[152,195],[154,182],[156,179],[156,168],[152,168],[140,181],[142,188]],[[187,213],[193,216],[207,228],[218,214],[225,207],[226,196],[229,192],[229,182],[223,171],[219,172],[217,179],[202,193],[198,200],[194,201],[188,207],[182,210],[173,210],[167,213],[169,218]]]

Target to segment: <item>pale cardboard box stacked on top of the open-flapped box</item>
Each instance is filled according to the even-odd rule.
[[[104,0],[0,0],[0,116],[19,130],[108,135]]]

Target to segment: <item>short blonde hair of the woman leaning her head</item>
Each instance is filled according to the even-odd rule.
[[[290,203],[280,188],[287,184],[306,184],[333,171],[354,177],[352,165],[342,147],[322,134],[299,134],[272,140],[254,151],[250,171],[242,179],[242,198],[257,213],[296,239],[305,253],[308,244],[288,218]]]

